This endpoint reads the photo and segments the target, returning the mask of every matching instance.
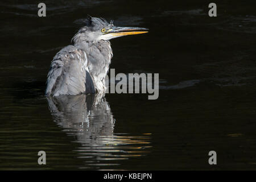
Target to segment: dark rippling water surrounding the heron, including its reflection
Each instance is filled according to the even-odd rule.
[[[46,18],[37,1],[0,3],[0,169],[256,169],[254,1],[215,1],[217,18],[207,1],[43,2]],[[87,14],[150,28],[112,40],[111,68],[159,73],[158,100],[43,96]]]

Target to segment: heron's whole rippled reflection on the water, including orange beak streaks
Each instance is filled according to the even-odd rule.
[[[90,167],[115,165],[117,160],[142,156],[147,152],[144,149],[150,147],[146,146],[150,143],[149,135],[114,135],[112,111],[100,94],[64,95],[47,100],[55,122],[81,143],[77,150],[79,158],[90,158]]]

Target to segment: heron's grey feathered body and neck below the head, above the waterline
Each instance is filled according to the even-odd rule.
[[[100,45],[101,44],[101,45]],[[102,51],[103,49],[108,49]],[[109,52],[109,54],[106,54]],[[97,55],[97,57],[95,56]],[[102,40],[89,47],[67,46],[53,57],[47,78],[46,95],[77,95],[105,90],[112,49]]]

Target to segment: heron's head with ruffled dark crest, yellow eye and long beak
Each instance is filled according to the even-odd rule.
[[[74,36],[80,36],[85,41],[97,42],[98,40],[110,40],[125,35],[135,35],[147,33],[147,28],[139,27],[117,27],[113,21],[108,23],[103,18],[93,18],[88,16],[85,20],[85,26]],[[73,41],[72,39],[72,41]]]

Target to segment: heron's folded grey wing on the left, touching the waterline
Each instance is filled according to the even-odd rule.
[[[53,58],[49,69],[46,95],[77,95],[89,91],[94,93],[87,63],[86,53],[81,49],[75,46],[61,49]]]

